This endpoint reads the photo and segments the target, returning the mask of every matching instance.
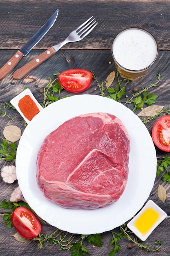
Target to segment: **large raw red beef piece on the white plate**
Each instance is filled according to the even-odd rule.
[[[128,179],[130,139],[107,113],[69,119],[43,141],[37,183],[44,196],[73,209],[96,209],[122,195]]]

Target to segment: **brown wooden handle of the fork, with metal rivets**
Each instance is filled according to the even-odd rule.
[[[19,80],[26,76],[34,68],[38,67],[42,62],[46,61],[48,58],[56,53],[53,47],[47,49],[45,52],[40,54],[38,57],[34,58],[32,61],[20,67],[13,73],[13,79]]]

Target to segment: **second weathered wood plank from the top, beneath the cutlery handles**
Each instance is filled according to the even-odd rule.
[[[15,51],[0,51],[0,63],[2,61],[6,62],[10,56],[14,54]],[[116,71],[114,62],[112,59],[111,50],[59,50],[54,56],[49,58],[47,61],[42,63],[39,67],[31,71],[25,78],[31,77],[29,79],[14,80],[12,75],[13,72],[25,65],[31,59],[42,53],[43,50],[32,50],[32,52],[23,57],[20,63],[14,68],[14,70],[2,81],[0,81],[0,102],[9,101],[12,97],[22,92],[25,87],[28,87],[39,102],[43,101],[43,95],[40,94],[39,89],[44,88],[47,84],[47,79],[54,78],[53,74],[56,72],[62,72],[71,68],[83,68],[86,70],[93,70],[101,83],[105,80],[113,70]],[[109,62],[112,64],[109,64]],[[157,61],[154,63],[153,67],[149,70],[145,77],[139,79],[135,82],[130,82],[126,86],[126,94],[130,97],[133,92],[134,87],[138,87],[141,90],[143,87],[148,87],[150,83],[157,82],[157,72],[160,71],[162,77],[161,81],[157,87],[152,88],[152,92],[159,97],[157,98],[157,103],[170,103],[169,97],[169,87],[170,87],[170,77],[169,77],[169,67],[170,67],[170,52],[169,51],[159,51]],[[38,88],[35,87],[38,85]],[[116,85],[116,79],[113,86]],[[92,81],[89,89],[86,91],[87,94],[100,94],[99,89],[94,91],[96,88],[96,82]],[[70,95],[69,92],[63,92],[63,96]],[[73,95],[73,94],[71,94]],[[122,99],[125,102],[127,99]]]

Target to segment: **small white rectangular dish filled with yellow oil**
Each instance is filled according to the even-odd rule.
[[[166,212],[149,200],[127,226],[142,241],[145,241],[166,216]]]

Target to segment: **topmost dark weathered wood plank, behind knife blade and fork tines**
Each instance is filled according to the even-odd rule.
[[[170,1],[112,0],[39,0],[11,1],[0,4],[0,49],[20,49],[59,8],[58,18],[35,49],[47,49],[64,40],[87,18],[94,16],[98,25],[78,43],[63,49],[110,49],[114,37],[128,27],[141,27],[152,33],[160,49],[170,49]]]

